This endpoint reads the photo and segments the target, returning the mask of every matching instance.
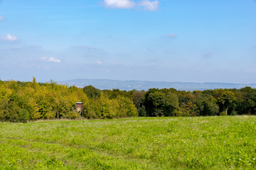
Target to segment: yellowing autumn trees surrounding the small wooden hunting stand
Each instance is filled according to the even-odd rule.
[[[130,98],[109,98],[100,91],[91,98],[83,89],[57,84],[55,81],[37,83],[0,81],[0,120],[26,122],[53,118],[79,118],[75,102],[84,105],[85,118],[125,118],[137,116],[137,108]]]

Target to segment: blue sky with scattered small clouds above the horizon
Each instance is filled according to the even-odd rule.
[[[0,0],[0,79],[256,83],[255,0]]]

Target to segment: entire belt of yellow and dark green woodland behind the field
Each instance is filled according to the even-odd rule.
[[[84,118],[126,118],[133,116],[255,115],[256,89],[214,89],[206,91],[99,90],[57,84],[0,81],[0,120],[26,122],[53,118],[79,118],[75,102],[83,102]]]

